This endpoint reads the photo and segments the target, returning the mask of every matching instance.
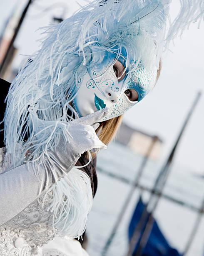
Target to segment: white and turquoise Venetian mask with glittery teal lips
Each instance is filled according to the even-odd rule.
[[[107,54],[102,64],[87,67],[77,82],[77,95],[72,104],[80,117],[109,108],[103,120],[125,113],[141,101],[154,86],[157,68],[147,71],[142,61],[131,61],[125,67],[124,58],[115,61]]]

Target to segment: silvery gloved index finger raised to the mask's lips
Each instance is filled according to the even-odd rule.
[[[78,120],[80,124],[92,125],[93,123],[97,123],[99,120],[103,119],[107,113],[108,108],[103,108],[95,113],[79,118]]]

